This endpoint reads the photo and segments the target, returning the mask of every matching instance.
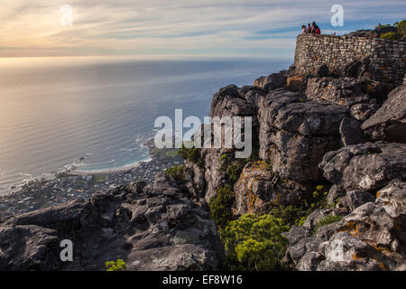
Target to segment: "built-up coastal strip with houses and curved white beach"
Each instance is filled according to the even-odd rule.
[[[174,164],[183,163],[178,154],[169,154],[171,149],[158,150],[151,140],[148,140],[146,145],[150,158],[144,161],[93,172],[76,171],[78,167],[70,168],[42,174],[23,183],[14,191],[0,195],[0,219],[54,207],[71,200],[88,199],[94,193],[113,190],[131,182],[151,183],[156,173]]]

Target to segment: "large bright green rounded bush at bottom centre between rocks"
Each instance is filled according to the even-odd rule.
[[[281,219],[271,215],[245,214],[221,232],[226,248],[226,266],[231,270],[274,270],[281,266],[287,231]]]

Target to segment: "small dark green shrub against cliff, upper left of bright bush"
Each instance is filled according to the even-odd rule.
[[[218,228],[225,228],[233,219],[231,207],[234,203],[234,192],[228,187],[221,187],[217,190],[216,197],[208,202],[211,219],[214,219]]]

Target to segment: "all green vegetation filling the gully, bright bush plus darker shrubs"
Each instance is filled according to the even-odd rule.
[[[223,161],[226,160],[222,156]],[[265,163],[266,165],[266,163]],[[260,215],[245,214],[234,219],[232,207],[235,193],[230,187],[221,187],[208,203],[211,218],[215,220],[225,244],[227,270],[281,270],[281,258],[288,242],[281,236],[291,226],[302,226],[309,214],[326,208],[328,189],[318,185],[308,200],[299,206],[269,203]],[[321,219],[318,227],[340,220],[339,216]]]

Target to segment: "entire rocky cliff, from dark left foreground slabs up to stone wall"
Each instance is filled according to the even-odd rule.
[[[287,222],[283,234],[280,268],[406,270],[404,43],[379,42],[375,51],[360,39],[357,53],[348,38],[333,40],[338,54],[355,52],[339,61],[309,58],[304,68],[306,46],[329,55],[323,50],[335,44],[299,36],[297,67],[214,95],[211,117],[253,117],[250,158],[235,159],[225,147],[191,149],[184,166],[151,184],[2,219],[0,269],[100,270],[117,258],[130,270],[222,269],[224,245],[208,203],[226,188],[231,219],[254,213],[283,221],[275,208],[298,212],[300,222]],[[384,68],[388,78],[377,69],[381,49],[396,49],[400,60]],[[75,244],[72,262],[59,259],[64,238]]]

